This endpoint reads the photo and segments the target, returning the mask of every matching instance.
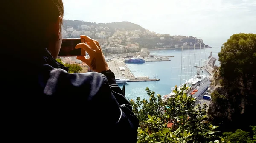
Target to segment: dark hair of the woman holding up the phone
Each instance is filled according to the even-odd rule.
[[[34,44],[47,46],[47,42],[52,39],[46,35],[47,28],[51,23],[57,22],[58,16],[64,15],[62,0],[3,1],[3,9],[0,9],[1,15],[3,14],[3,42],[15,42],[17,47]]]

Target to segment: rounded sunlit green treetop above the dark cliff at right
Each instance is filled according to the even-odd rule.
[[[233,81],[240,76],[252,77],[256,67],[256,34],[234,34],[218,53],[221,76]],[[232,74],[230,74],[232,73]]]

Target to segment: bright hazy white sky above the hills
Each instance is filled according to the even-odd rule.
[[[256,0],[63,0],[64,19],[129,21],[160,34],[230,37],[256,33]]]

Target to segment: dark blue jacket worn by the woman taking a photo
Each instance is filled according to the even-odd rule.
[[[70,74],[47,50],[33,61],[11,61],[16,63],[1,67],[1,118],[7,136],[34,141],[70,137],[91,143],[137,141],[138,119],[114,73]]]

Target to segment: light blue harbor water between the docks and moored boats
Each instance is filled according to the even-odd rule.
[[[218,53],[221,50],[222,43],[227,39],[222,40],[208,40],[204,41],[205,44],[212,48],[205,48],[202,46],[200,49],[195,49],[193,46],[190,50],[154,50],[150,51],[150,55],[157,56],[174,56],[170,57],[170,61],[161,62],[145,62],[145,63],[128,63],[126,64],[135,77],[148,76],[150,79],[160,79],[160,81],[147,81],[147,82],[128,82],[125,83],[125,97],[128,100],[135,100],[137,97],[141,99],[149,99],[145,89],[148,87],[156,94],[166,95],[171,92],[171,87],[179,86],[185,80],[192,78],[196,73],[196,66],[202,66],[206,59],[212,56],[217,60],[215,65],[219,66]],[[182,55],[181,55],[182,54]],[[182,59],[182,60],[181,60]],[[182,62],[181,62],[182,61]],[[182,68],[181,68],[182,67]],[[206,71],[204,74],[209,74]],[[181,80],[180,80],[181,79]],[[119,84],[123,87],[123,84]]]

